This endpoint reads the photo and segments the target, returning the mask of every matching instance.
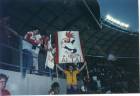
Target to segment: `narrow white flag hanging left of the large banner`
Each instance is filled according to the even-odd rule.
[[[51,69],[54,68],[54,56],[52,54],[52,45],[51,45],[51,35],[50,35],[50,40],[48,41],[48,51],[47,51],[47,58],[46,58],[46,63],[45,67],[49,67]]]

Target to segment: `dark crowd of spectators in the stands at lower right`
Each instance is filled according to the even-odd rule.
[[[138,78],[121,67],[96,66],[90,71],[90,77],[87,93],[138,92]]]

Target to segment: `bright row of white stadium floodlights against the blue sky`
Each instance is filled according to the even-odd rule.
[[[107,14],[105,20],[110,21],[113,24],[119,25],[120,27],[123,28],[128,28],[129,24],[123,23],[115,18],[113,18],[111,15]]]

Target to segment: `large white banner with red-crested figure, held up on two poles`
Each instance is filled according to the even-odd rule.
[[[56,63],[84,62],[78,31],[59,31],[56,39]]]

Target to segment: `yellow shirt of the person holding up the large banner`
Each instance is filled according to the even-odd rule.
[[[66,75],[68,85],[77,85],[77,74],[79,73],[79,70],[74,70],[72,72],[65,70],[64,73]]]

